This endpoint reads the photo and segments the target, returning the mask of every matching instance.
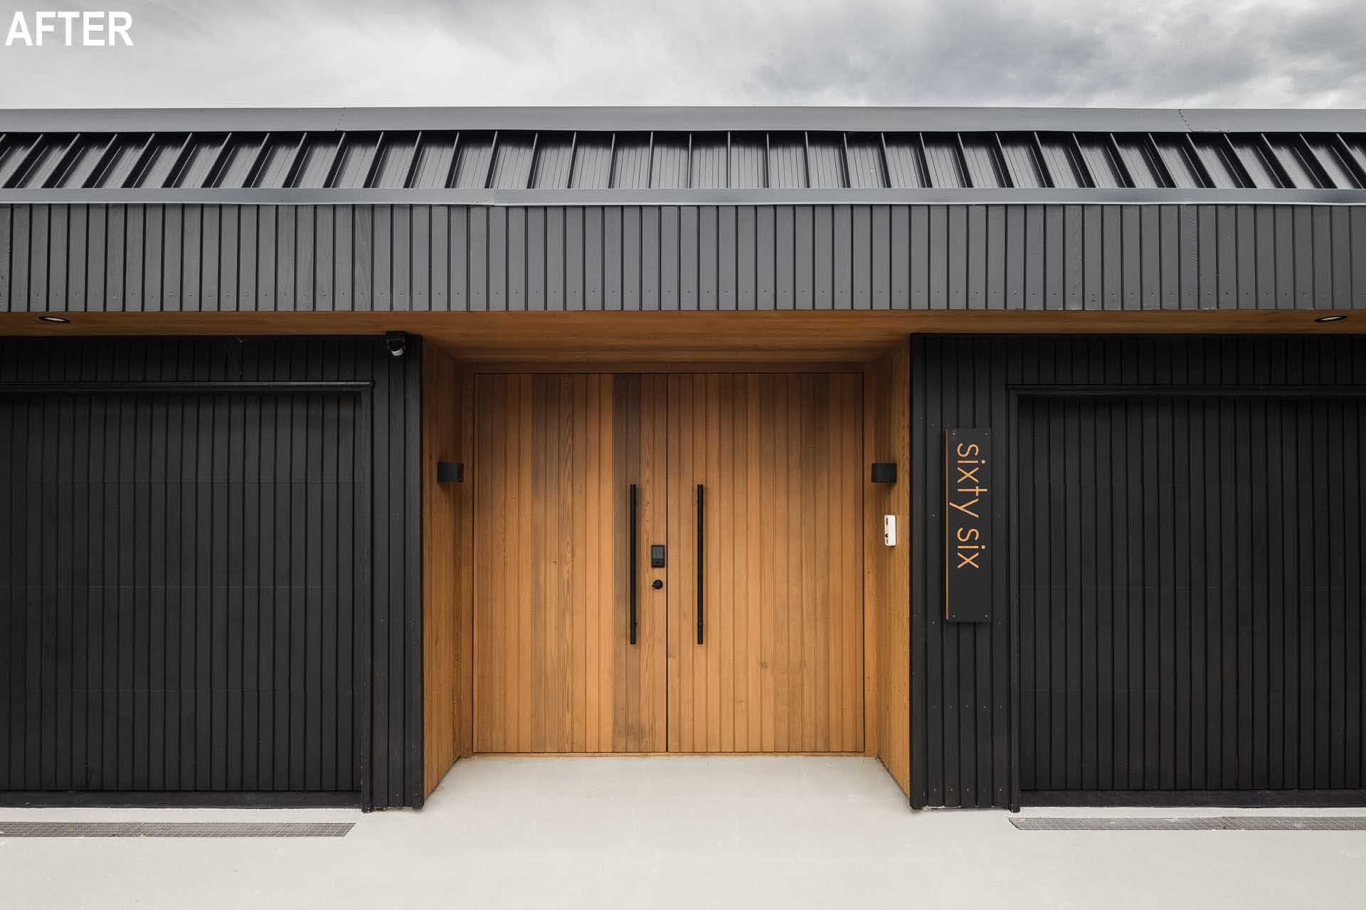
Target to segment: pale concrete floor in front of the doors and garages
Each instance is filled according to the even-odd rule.
[[[26,909],[1171,910],[1361,907],[1366,894],[1366,831],[1022,832],[1004,812],[911,812],[865,759],[475,759],[419,813],[0,809],[0,819],[357,823],[344,839],[317,840],[0,839],[0,906]]]

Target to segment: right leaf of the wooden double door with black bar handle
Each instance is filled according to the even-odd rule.
[[[669,749],[862,752],[862,378],[693,374],[668,392]]]

